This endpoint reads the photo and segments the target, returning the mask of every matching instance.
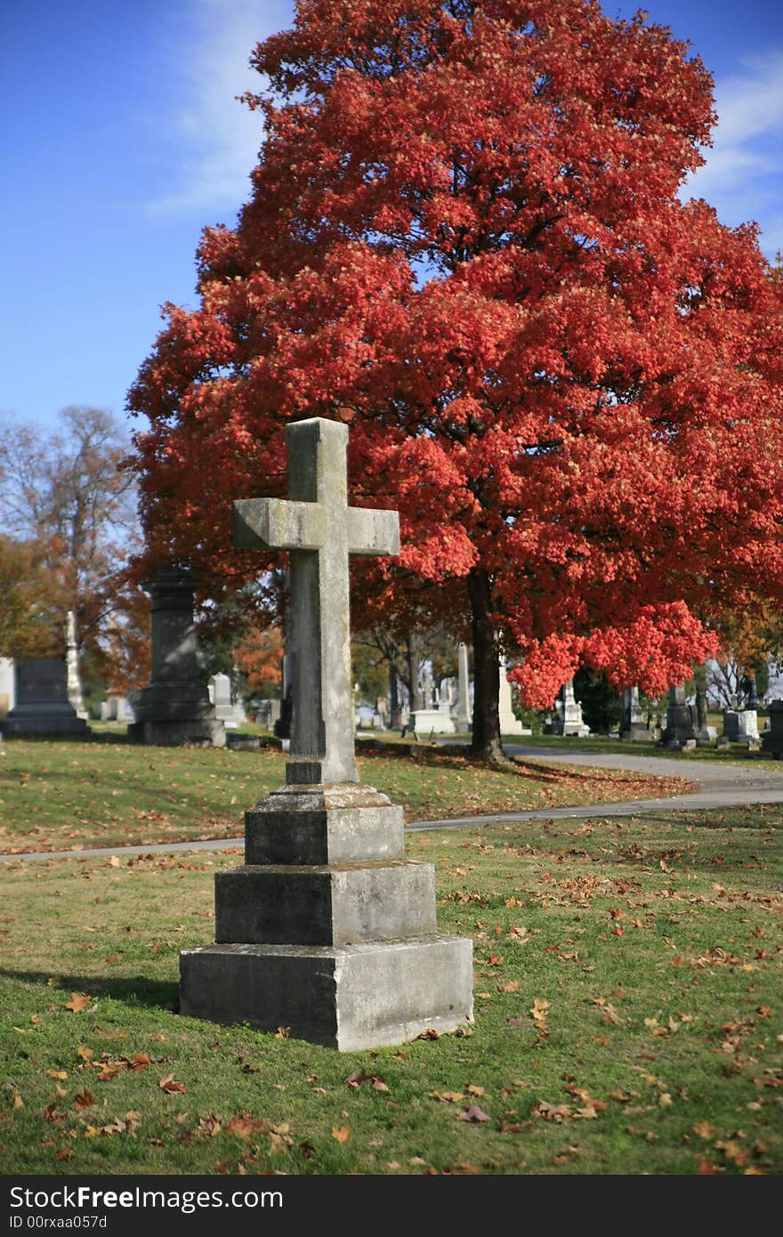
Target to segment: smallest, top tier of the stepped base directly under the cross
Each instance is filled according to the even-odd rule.
[[[246,863],[402,858],[402,808],[375,787],[283,787],[245,813]]]

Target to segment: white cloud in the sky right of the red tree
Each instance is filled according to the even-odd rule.
[[[716,83],[714,145],[683,197],[705,198],[731,226],[755,220],[774,257],[783,242],[783,49],[743,63],[742,73]]]

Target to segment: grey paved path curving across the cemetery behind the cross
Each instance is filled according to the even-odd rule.
[[[771,767],[767,761],[753,764],[724,764],[698,760],[673,760],[665,756],[635,756],[632,752],[567,751],[534,743],[506,743],[508,755],[528,760],[560,761],[591,768],[626,769],[630,773],[651,773],[657,777],[680,777],[698,782],[700,789],[690,794],[661,799],[630,799],[623,803],[595,803],[581,808],[536,808],[529,811],[503,811],[484,816],[458,816],[451,820],[419,820],[407,825],[409,831],[454,829],[465,825],[503,824],[513,820],[585,819],[589,816],[630,816],[649,811],[684,811],[704,808],[732,808],[755,803],[783,803],[783,762]],[[208,841],[161,842],[155,846],[103,846],[96,850],[28,851],[24,855],[0,855],[0,862],[88,858],[100,855],[162,855],[194,850],[231,850],[245,846],[244,837],[210,839]]]

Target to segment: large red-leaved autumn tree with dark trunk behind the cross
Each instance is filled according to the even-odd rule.
[[[710,615],[783,589],[781,283],[753,225],[678,190],[712,83],[585,0],[299,0],[261,43],[252,194],[129,406],[148,562],[257,575],[233,499],[283,492],[291,418],[351,422],[353,501],[396,506],[357,614],[429,589],[528,704],[578,664],[658,694]]]

